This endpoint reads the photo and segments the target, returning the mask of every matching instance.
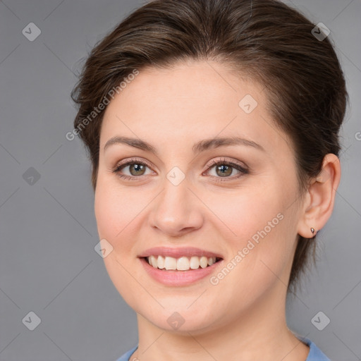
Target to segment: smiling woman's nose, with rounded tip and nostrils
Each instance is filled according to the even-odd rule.
[[[152,204],[150,226],[166,235],[177,237],[202,226],[202,202],[186,178],[178,185],[164,178],[164,189]]]

